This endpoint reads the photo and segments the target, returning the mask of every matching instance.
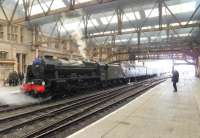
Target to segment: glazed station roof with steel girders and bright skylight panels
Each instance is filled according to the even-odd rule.
[[[47,36],[74,32],[96,46],[184,39],[198,42],[200,0],[4,0],[1,19],[39,26]],[[140,40],[138,40],[138,36]]]

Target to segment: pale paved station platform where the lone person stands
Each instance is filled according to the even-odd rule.
[[[200,80],[169,80],[68,138],[200,138]]]

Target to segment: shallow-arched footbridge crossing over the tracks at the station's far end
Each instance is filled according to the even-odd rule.
[[[193,52],[188,53],[187,51],[191,51],[191,48],[182,48],[182,49],[174,49],[173,47],[168,47],[167,49],[158,49],[157,47],[152,47],[150,50],[145,49],[136,49],[134,51],[124,51],[124,52],[114,52],[110,54],[105,60],[109,63],[120,62],[132,60],[130,57],[134,55],[134,60],[146,60],[146,59],[181,59],[181,60],[189,60],[195,59]],[[195,65],[195,63],[192,63]]]

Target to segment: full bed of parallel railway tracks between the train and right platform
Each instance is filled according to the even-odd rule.
[[[55,131],[73,125],[85,118],[111,108],[112,106],[137,95],[163,79],[146,80],[128,86],[74,98],[68,101],[44,106],[39,109],[10,114],[0,118],[0,135],[6,137],[44,137]],[[134,92],[131,92],[134,90]]]

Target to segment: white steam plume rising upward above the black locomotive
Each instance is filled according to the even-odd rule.
[[[82,56],[84,59],[86,59],[86,58],[87,58],[87,56],[86,56],[86,51],[85,51],[86,43],[85,43],[84,40],[82,40],[82,36],[83,36],[83,35],[82,35],[82,32],[79,31],[79,30],[76,30],[76,31],[72,32],[71,36],[72,36],[72,38],[73,38],[74,40],[76,40],[76,42],[77,42],[77,44],[78,44],[78,46],[79,46],[79,51],[80,51],[81,56]]]

